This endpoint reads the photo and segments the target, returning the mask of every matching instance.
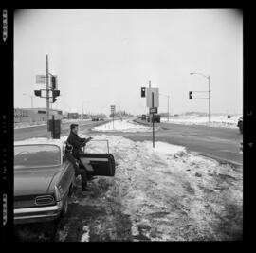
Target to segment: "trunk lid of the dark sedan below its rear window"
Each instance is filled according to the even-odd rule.
[[[14,196],[48,194],[50,183],[61,167],[29,168],[14,172]]]

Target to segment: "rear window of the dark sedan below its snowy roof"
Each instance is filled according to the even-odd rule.
[[[14,169],[61,164],[61,149],[56,145],[22,145],[14,147]]]

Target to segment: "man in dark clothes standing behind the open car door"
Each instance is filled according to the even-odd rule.
[[[85,193],[85,191],[91,190],[87,188],[87,172],[84,166],[82,166],[82,162],[80,160],[80,155],[82,154],[82,147],[84,147],[86,143],[91,139],[92,137],[89,137],[86,139],[78,136],[78,124],[70,125],[70,134],[66,142],[67,142],[67,147],[68,145],[72,146],[72,151],[69,151],[66,154],[67,154],[67,158],[75,168],[75,175],[78,176],[79,174],[81,174],[82,193]]]

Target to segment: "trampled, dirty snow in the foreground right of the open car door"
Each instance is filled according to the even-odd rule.
[[[234,240],[242,235],[241,168],[163,142],[155,142],[153,149],[149,141],[120,136],[94,139],[109,140],[117,169],[115,178],[104,178],[110,186],[105,195],[129,215],[133,241]]]

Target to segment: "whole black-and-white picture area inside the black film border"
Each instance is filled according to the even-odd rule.
[[[15,241],[243,240],[243,102],[242,9],[15,9]]]

